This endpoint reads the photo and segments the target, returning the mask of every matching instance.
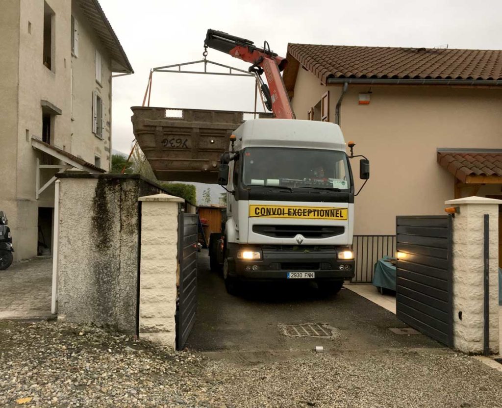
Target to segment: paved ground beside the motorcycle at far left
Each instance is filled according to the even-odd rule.
[[[0,320],[51,316],[52,258],[21,261],[0,271]]]

